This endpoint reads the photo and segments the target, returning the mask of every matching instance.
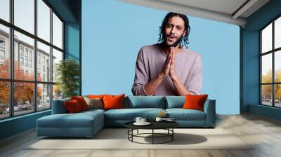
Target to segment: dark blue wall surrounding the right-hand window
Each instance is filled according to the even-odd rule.
[[[281,119],[281,109],[259,105],[259,30],[281,15],[281,1],[271,0],[247,18],[242,32],[242,103],[241,111]],[[255,106],[253,106],[255,105]]]

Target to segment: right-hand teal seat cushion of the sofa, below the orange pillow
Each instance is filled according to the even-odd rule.
[[[166,109],[170,118],[175,121],[205,121],[206,114],[195,109]]]

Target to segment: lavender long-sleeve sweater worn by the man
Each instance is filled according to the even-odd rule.
[[[166,55],[158,44],[143,46],[136,60],[136,75],[133,83],[133,95],[147,95],[144,85],[157,78],[162,71]],[[202,58],[198,53],[183,48],[175,55],[175,72],[183,86],[193,95],[199,95],[202,88]],[[178,95],[169,76],[163,79],[153,95]]]

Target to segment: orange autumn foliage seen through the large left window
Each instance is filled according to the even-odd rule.
[[[5,60],[3,65],[0,65],[0,77],[1,78],[9,78],[10,76],[10,63],[9,60]],[[24,72],[20,69],[20,65],[17,61],[14,62],[14,77],[15,80],[28,80],[32,81],[34,79],[33,74],[24,74]],[[39,77],[41,80],[41,77]],[[9,103],[9,82],[8,81],[0,81],[0,103],[8,104]],[[18,104],[18,102],[32,102],[34,95],[34,83],[22,83],[15,82],[14,83],[14,104]],[[37,88],[37,97],[41,97],[41,88]]]

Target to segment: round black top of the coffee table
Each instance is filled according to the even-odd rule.
[[[135,121],[125,123],[126,128],[131,129],[166,129],[166,128],[177,128],[179,126],[175,121],[149,121],[150,125],[134,125]]]

